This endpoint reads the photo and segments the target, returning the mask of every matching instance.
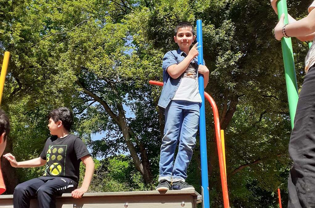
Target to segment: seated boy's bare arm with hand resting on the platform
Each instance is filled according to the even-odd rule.
[[[84,193],[86,193],[89,189],[89,185],[92,181],[92,177],[94,174],[94,162],[90,155],[86,155],[81,158],[81,161],[85,165],[85,174],[82,182],[81,188],[77,188],[72,191],[72,197],[75,199],[81,198]]]

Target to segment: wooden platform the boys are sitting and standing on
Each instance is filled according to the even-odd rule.
[[[196,191],[138,191],[86,193],[81,199],[62,194],[56,199],[57,208],[196,208],[202,197]],[[37,200],[31,200],[37,208]],[[0,195],[0,208],[13,208],[13,195]]]

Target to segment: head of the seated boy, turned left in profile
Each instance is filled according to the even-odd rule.
[[[70,131],[73,124],[72,112],[66,107],[56,108],[47,116],[48,127],[51,135],[57,135],[57,133],[64,128]]]

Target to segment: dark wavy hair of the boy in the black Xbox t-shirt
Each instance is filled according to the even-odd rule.
[[[54,122],[61,121],[66,130],[70,131],[73,124],[72,112],[67,107],[56,108],[47,116],[48,120],[51,118]]]

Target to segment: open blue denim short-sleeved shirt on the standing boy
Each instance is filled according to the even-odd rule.
[[[178,78],[173,79],[171,76],[169,76],[169,73],[166,71],[167,68],[173,64],[179,64],[181,61],[185,59],[187,54],[180,50],[171,50],[167,52],[164,57],[163,57],[163,89],[161,92],[160,99],[157,103],[157,106],[162,108],[164,110],[168,105],[169,102],[172,100],[174,97],[179,85],[181,78],[183,77],[184,73],[181,74]],[[198,58],[195,57],[192,61],[192,63],[197,63],[197,72],[198,72]],[[203,60],[203,65],[204,65],[204,60]]]

